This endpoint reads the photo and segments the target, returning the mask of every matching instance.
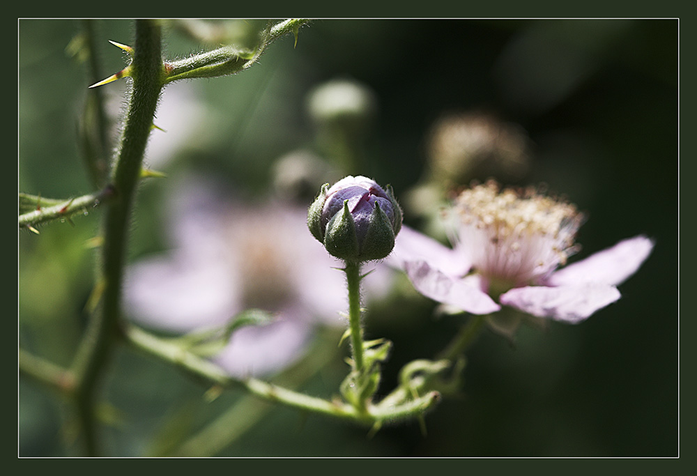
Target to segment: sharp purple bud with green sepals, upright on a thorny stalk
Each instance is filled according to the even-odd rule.
[[[401,208],[392,188],[348,176],[325,184],[307,211],[307,227],[329,254],[346,261],[383,259],[395,247]]]

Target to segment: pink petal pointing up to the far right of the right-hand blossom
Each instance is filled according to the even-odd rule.
[[[554,272],[546,280],[546,284],[565,286],[596,282],[617,286],[638,270],[653,246],[653,241],[645,236],[622,240],[613,247]]]

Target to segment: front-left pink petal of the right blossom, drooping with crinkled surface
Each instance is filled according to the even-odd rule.
[[[445,275],[426,261],[406,261],[404,268],[415,289],[427,298],[472,314],[496,312],[500,306],[477,286]]]

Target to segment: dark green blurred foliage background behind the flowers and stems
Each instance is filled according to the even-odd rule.
[[[107,77],[124,64],[107,40],[132,44],[132,25],[96,26]],[[92,191],[76,136],[91,82],[67,49],[79,31],[70,20],[18,22],[21,192],[57,199]],[[208,47],[174,26],[165,38],[169,56]],[[484,110],[530,138],[520,184],[546,183],[588,212],[581,257],[639,233],[657,242],[620,287],[622,299],[585,323],[526,328],[514,346],[483,335],[468,353],[461,398],[428,415],[427,436],[404,424],[368,439],[365,429],[273,407],[221,454],[677,455],[677,47],[676,20],[319,20],[300,31],[295,48],[292,37],[282,38],[250,70],[168,86],[160,112],[176,94],[187,102],[172,104],[171,117],[158,114],[155,123],[167,132],[153,131],[146,155],[168,176],[213,171],[238,194],[268,193],[279,157],[317,149],[307,94],[351,78],[378,101],[360,174],[391,183],[398,199],[427,170],[427,134],[438,118]],[[115,125],[127,86],[102,87]],[[168,180],[141,187],[131,259],[165,242],[158,218]],[[96,215],[19,236],[20,343],[62,364],[84,325],[95,261],[86,243]],[[405,221],[418,225],[408,210]],[[367,314],[367,337],[395,343],[385,388],[404,363],[436,353],[461,323],[433,317],[431,302],[407,295]],[[338,387],[340,358],[306,384],[309,394]],[[172,421],[177,431],[200,428],[240,398],[226,392],[206,403],[199,382],[126,348],[111,370],[112,455],[147,454]],[[20,455],[70,454],[60,402],[22,380],[19,398]]]

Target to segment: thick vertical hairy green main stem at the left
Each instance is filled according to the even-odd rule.
[[[141,163],[151,132],[155,108],[162,90],[160,26],[151,20],[136,22],[133,89],[125,118],[116,166],[112,172],[114,198],[105,212],[101,312],[91,316],[86,335],[73,362],[77,376],[76,404],[84,433],[86,452],[98,453],[93,400],[98,378],[112,353],[121,317],[121,283],[130,228],[130,212],[140,176]]]

